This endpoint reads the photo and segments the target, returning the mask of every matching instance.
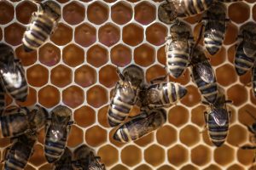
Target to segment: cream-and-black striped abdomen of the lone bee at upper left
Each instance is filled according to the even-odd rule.
[[[53,29],[53,21],[49,20],[44,14],[36,14],[36,17],[37,19],[31,23],[29,30],[24,33],[22,39],[26,51],[32,51],[40,47]]]

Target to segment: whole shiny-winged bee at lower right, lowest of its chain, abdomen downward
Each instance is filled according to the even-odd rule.
[[[205,121],[208,128],[208,133],[212,144],[221,146],[228,135],[230,125],[230,112],[227,111],[227,103],[231,103],[230,100],[225,100],[223,89],[219,89],[218,99],[214,104],[204,102],[204,104],[210,105],[208,111],[204,113]]]

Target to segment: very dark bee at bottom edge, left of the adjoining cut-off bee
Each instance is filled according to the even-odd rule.
[[[72,170],[72,152],[67,147],[61,158],[54,163],[55,170]]]

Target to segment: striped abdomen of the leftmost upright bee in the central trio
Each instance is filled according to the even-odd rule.
[[[111,127],[118,126],[125,121],[133,105],[123,101],[122,98],[116,96],[113,98],[108,109],[108,123]]]

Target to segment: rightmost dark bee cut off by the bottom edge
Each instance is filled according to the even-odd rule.
[[[73,167],[80,170],[106,170],[104,164],[98,161],[99,159],[94,150],[82,144],[73,152]]]

